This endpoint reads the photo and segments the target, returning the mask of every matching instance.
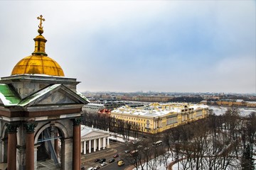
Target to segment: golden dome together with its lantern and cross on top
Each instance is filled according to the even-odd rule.
[[[47,40],[42,35],[42,21],[45,21],[45,19],[43,19],[43,16],[38,17],[38,19],[40,19],[41,22],[38,26],[39,35],[33,39],[35,41],[35,50],[32,55],[23,58],[16,64],[11,75],[46,74],[49,76],[64,77],[63,69],[61,69],[60,65],[55,62],[55,60],[48,57],[45,52]]]

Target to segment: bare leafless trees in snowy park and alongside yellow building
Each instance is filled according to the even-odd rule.
[[[157,169],[164,164],[169,169],[167,159],[171,157],[180,169],[255,169],[256,113],[240,115],[238,108],[228,108],[223,115],[210,111],[208,118],[147,135],[135,143],[129,142],[129,136],[138,137],[136,123],[90,113],[84,114],[83,123],[123,135],[127,149],[137,151],[126,158],[136,168]],[[163,145],[154,147],[158,140]]]

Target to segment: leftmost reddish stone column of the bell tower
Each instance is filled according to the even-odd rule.
[[[7,168],[16,170],[16,145],[17,145],[17,128],[16,124],[7,124],[8,128],[8,154],[7,154]]]

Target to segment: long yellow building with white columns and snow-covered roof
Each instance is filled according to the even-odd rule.
[[[137,108],[122,106],[111,111],[111,117],[133,123],[141,132],[156,133],[208,117],[208,106],[188,103],[150,103]]]

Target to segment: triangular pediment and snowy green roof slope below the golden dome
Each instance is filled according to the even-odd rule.
[[[0,84],[0,104],[10,106],[46,106],[54,104],[87,104],[90,101],[78,91],[68,89],[63,84],[52,84],[34,94],[21,99],[7,84]]]

